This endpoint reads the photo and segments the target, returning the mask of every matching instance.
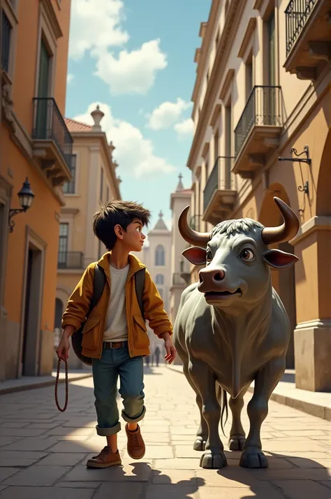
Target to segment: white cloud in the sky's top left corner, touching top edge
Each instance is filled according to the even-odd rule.
[[[123,8],[123,0],[72,0],[69,57],[81,59],[85,52],[126,43]]]

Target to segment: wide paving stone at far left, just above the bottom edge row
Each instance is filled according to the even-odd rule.
[[[32,465],[30,468],[20,470],[15,475],[4,480],[3,485],[51,486],[68,470],[70,468],[65,466]]]

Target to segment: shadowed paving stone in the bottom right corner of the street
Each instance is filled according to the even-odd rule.
[[[288,499],[330,499],[330,490],[311,480],[277,480],[274,482]]]

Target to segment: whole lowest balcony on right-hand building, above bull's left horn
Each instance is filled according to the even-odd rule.
[[[232,212],[237,191],[231,182],[233,157],[219,156],[203,191],[203,220],[219,224]]]

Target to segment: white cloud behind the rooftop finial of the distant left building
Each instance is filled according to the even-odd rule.
[[[90,113],[96,108],[97,104],[105,113],[101,121],[101,127],[107,134],[108,141],[112,140],[116,147],[114,157],[119,163],[119,175],[123,171],[133,174],[135,178],[139,178],[150,173],[172,173],[175,171],[175,166],[156,155],[152,140],[144,138],[141,131],[131,123],[113,117],[112,110],[107,104],[101,102],[91,103],[86,113],[75,116],[73,119],[93,124]]]

